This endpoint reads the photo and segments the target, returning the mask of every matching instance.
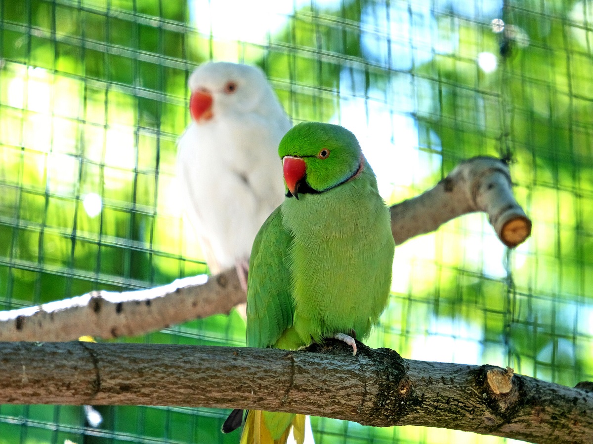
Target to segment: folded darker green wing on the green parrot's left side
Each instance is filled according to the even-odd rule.
[[[257,233],[247,275],[247,346],[275,345],[292,326],[294,300],[286,264],[291,234],[282,225],[280,207]]]

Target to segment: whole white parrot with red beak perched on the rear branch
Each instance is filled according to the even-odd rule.
[[[177,151],[184,207],[211,273],[235,266],[247,289],[251,244],[285,193],[278,144],[291,121],[254,66],[204,63],[189,88],[192,123]]]

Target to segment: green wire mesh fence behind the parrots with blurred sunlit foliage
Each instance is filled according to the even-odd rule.
[[[177,200],[199,63],[260,65],[294,123],[352,130],[395,203],[475,155],[511,162],[533,236],[481,214],[398,246],[370,346],[593,378],[593,2],[0,2],[0,308],[207,268]],[[127,342],[243,345],[236,313]],[[0,443],[216,443],[228,411],[0,406]],[[498,442],[313,419],[317,443]]]

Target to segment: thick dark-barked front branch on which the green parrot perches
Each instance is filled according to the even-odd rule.
[[[359,352],[100,343],[0,343],[0,404],[259,408],[385,427],[589,443],[593,392],[512,369]]]

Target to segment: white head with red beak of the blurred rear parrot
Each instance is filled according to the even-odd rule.
[[[221,114],[251,112],[270,93],[258,67],[228,62],[207,62],[189,78],[190,113],[196,123]]]

